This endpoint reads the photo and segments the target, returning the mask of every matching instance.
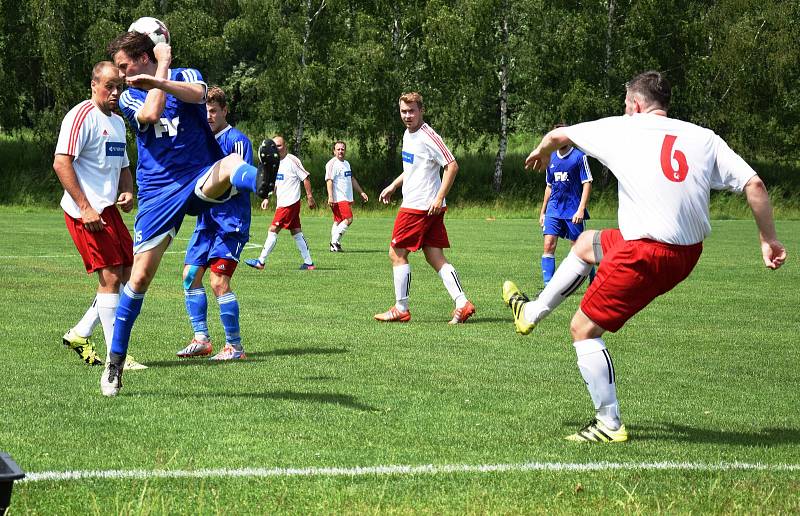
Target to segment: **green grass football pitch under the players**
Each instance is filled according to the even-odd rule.
[[[447,255],[478,310],[451,327],[416,255],[413,320],[372,320],[393,302],[391,218],[357,218],[331,254],[330,219],[306,216],[319,269],[296,270],[287,233],[265,271],[242,266],[249,358],[220,364],[175,357],[191,333],[187,219],[134,327],[149,369],[107,399],[101,369],[61,345],[95,288],[61,213],[0,218],[0,450],[31,474],[10,515],[800,511],[800,222],[778,223],[790,257],[775,272],[752,221],[715,222],[692,276],[607,336],[631,440],[596,446],[562,440],[591,415],[568,331],[579,296],[528,337],[500,299],[503,279],[539,286],[532,220],[449,219]],[[254,216],[245,258],[268,222]],[[209,322],[218,346],[213,299]]]

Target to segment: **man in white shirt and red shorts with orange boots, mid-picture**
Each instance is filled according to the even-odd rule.
[[[384,188],[380,201],[388,204],[397,187],[403,186],[403,203],[394,222],[389,258],[394,274],[395,304],[386,312],[375,314],[383,322],[408,322],[411,288],[411,266],[408,255],[422,249],[428,264],[439,274],[448,294],[455,303],[450,324],[464,323],[475,313],[475,306],[461,288],[455,268],[447,262],[442,249],[450,247],[444,227],[447,210],[445,196],[458,173],[450,149],[424,122],[425,108],[419,93],[400,96],[400,118],[406,126],[403,134],[403,173]],[[439,171],[444,167],[444,174]]]

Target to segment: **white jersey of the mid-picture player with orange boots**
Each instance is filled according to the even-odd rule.
[[[423,123],[413,133],[403,134],[403,204],[400,208],[428,211],[439,188],[442,167],[455,161],[442,138]],[[446,206],[442,202],[442,206]]]

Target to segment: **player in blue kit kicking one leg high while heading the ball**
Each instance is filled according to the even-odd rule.
[[[133,324],[183,217],[237,191],[265,197],[280,161],[271,141],[259,148],[257,169],[238,154],[223,157],[206,121],[205,82],[192,68],[170,69],[172,49],[166,43],[154,45],[145,34],[126,32],[109,44],[108,53],[129,86],[119,107],[136,134],[139,158],[133,268],[120,293],[110,357],[100,378],[103,395],[116,396]]]

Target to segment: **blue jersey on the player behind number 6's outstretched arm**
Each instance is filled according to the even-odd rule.
[[[563,157],[558,155],[558,151],[554,152],[550,156],[546,174],[551,191],[545,217],[571,219],[581,205],[583,183],[591,180],[592,171],[589,170],[586,154],[575,147]],[[589,212],[586,210],[584,219],[588,218]]]

